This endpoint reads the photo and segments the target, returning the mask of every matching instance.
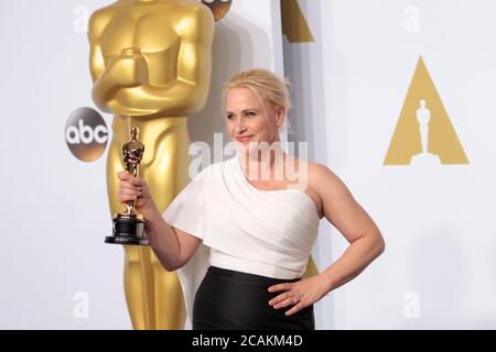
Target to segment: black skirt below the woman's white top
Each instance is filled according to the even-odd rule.
[[[291,306],[269,306],[282,293],[269,293],[269,286],[295,280],[211,266],[196,292],[193,330],[314,330],[313,305],[292,316],[284,315]]]

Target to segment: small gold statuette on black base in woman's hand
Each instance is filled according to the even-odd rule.
[[[126,173],[133,177],[139,177],[139,165],[143,157],[144,145],[138,141],[140,130],[131,129],[131,141],[122,146],[122,161],[126,165]],[[106,243],[149,245],[144,235],[143,216],[134,210],[136,199],[126,205],[126,212],[118,213],[114,222],[114,233],[105,239]]]

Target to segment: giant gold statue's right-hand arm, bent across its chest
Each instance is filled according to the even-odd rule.
[[[205,106],[211,82],[214,18],[203,4],[184,19],[177,59],[177,78],[170,85],[150,82],[120,89],[109,108],[121,116],[175,116],[198,112]]]

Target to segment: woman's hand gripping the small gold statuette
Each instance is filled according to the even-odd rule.
[[[119,178],[117,193],[119,201],[126,206],[128,201],[136,199],[134,209],[147,217],[147,213],[153,209],[154,202],[144,179],[128,175],[126,172],[117,173],[117,177]]]

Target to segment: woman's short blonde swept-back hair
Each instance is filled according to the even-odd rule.
[[[227,95],[235,88],[249,88],[255,90],[257,96],[269,99],[269,102],[274,109],[284,107],[289,110],[292,107],[289,95],[289,89],[291,88],[290,81],[268,69],[255,68],[233,75],[229,80],[223,85],[224,111]]]

